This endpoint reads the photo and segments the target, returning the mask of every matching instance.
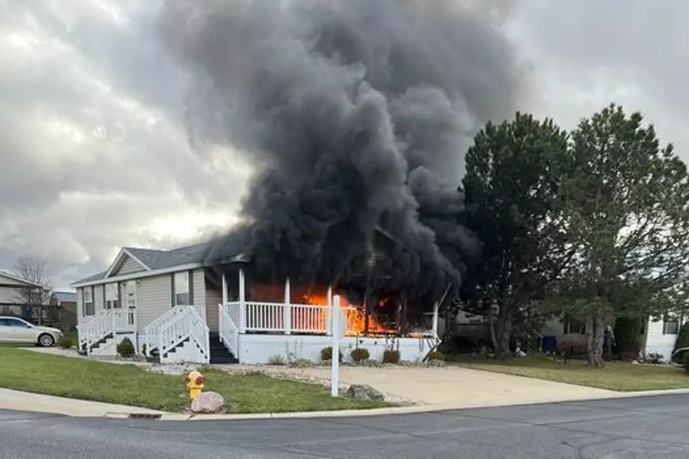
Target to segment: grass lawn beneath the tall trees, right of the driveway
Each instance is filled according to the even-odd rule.
[[[682,368],[665,366],[610,362],[603,368],[588,368],[586,361],[568,361],[565,366],[553,359],[538,357],[513,358],[506,362],[467,358],[456,364],[476,370],[568,382],[619,392],[689,388],[689,375]]]

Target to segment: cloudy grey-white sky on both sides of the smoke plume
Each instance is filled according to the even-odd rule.
[[[524,110],[572,127],[616,101],[689,160],[689,3],[513,3]],[[186,79],[157,42],[157,7],[0,0],[0,269],[32,252],[68,287],[122,245],[174,247],[232,224],[247,165],[188,147]]]

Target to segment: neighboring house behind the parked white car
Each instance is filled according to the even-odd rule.
[[[0,315],[17,316],[26,321],[42,323],[49,319],[47,295],[50,287],[22,279],[13,273],[0,271]],[[30,292],[30,293],[29,293]],[[30,302],[30,299],[38,299]]]

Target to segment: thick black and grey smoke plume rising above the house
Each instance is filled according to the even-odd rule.
[[[462,226],[463,155],[515,110],[510,46],[485,3],[169,0],[189,70],[195,148],[232,146],[255,174],[246,221],[208,261],[250,254],[266,279],[346,281],[382,228],[385,280],[415,298],[458,285],[479,252]]]

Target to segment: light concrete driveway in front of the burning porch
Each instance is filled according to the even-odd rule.
[[[328,383],[330,368],[262,367],[269,374]],[[528,377],[447,366],[444,368],[340,368],[344,384],[369,384],[389,399],[446,408],[475,408],[522,403],[600,399],[619,393]]]

